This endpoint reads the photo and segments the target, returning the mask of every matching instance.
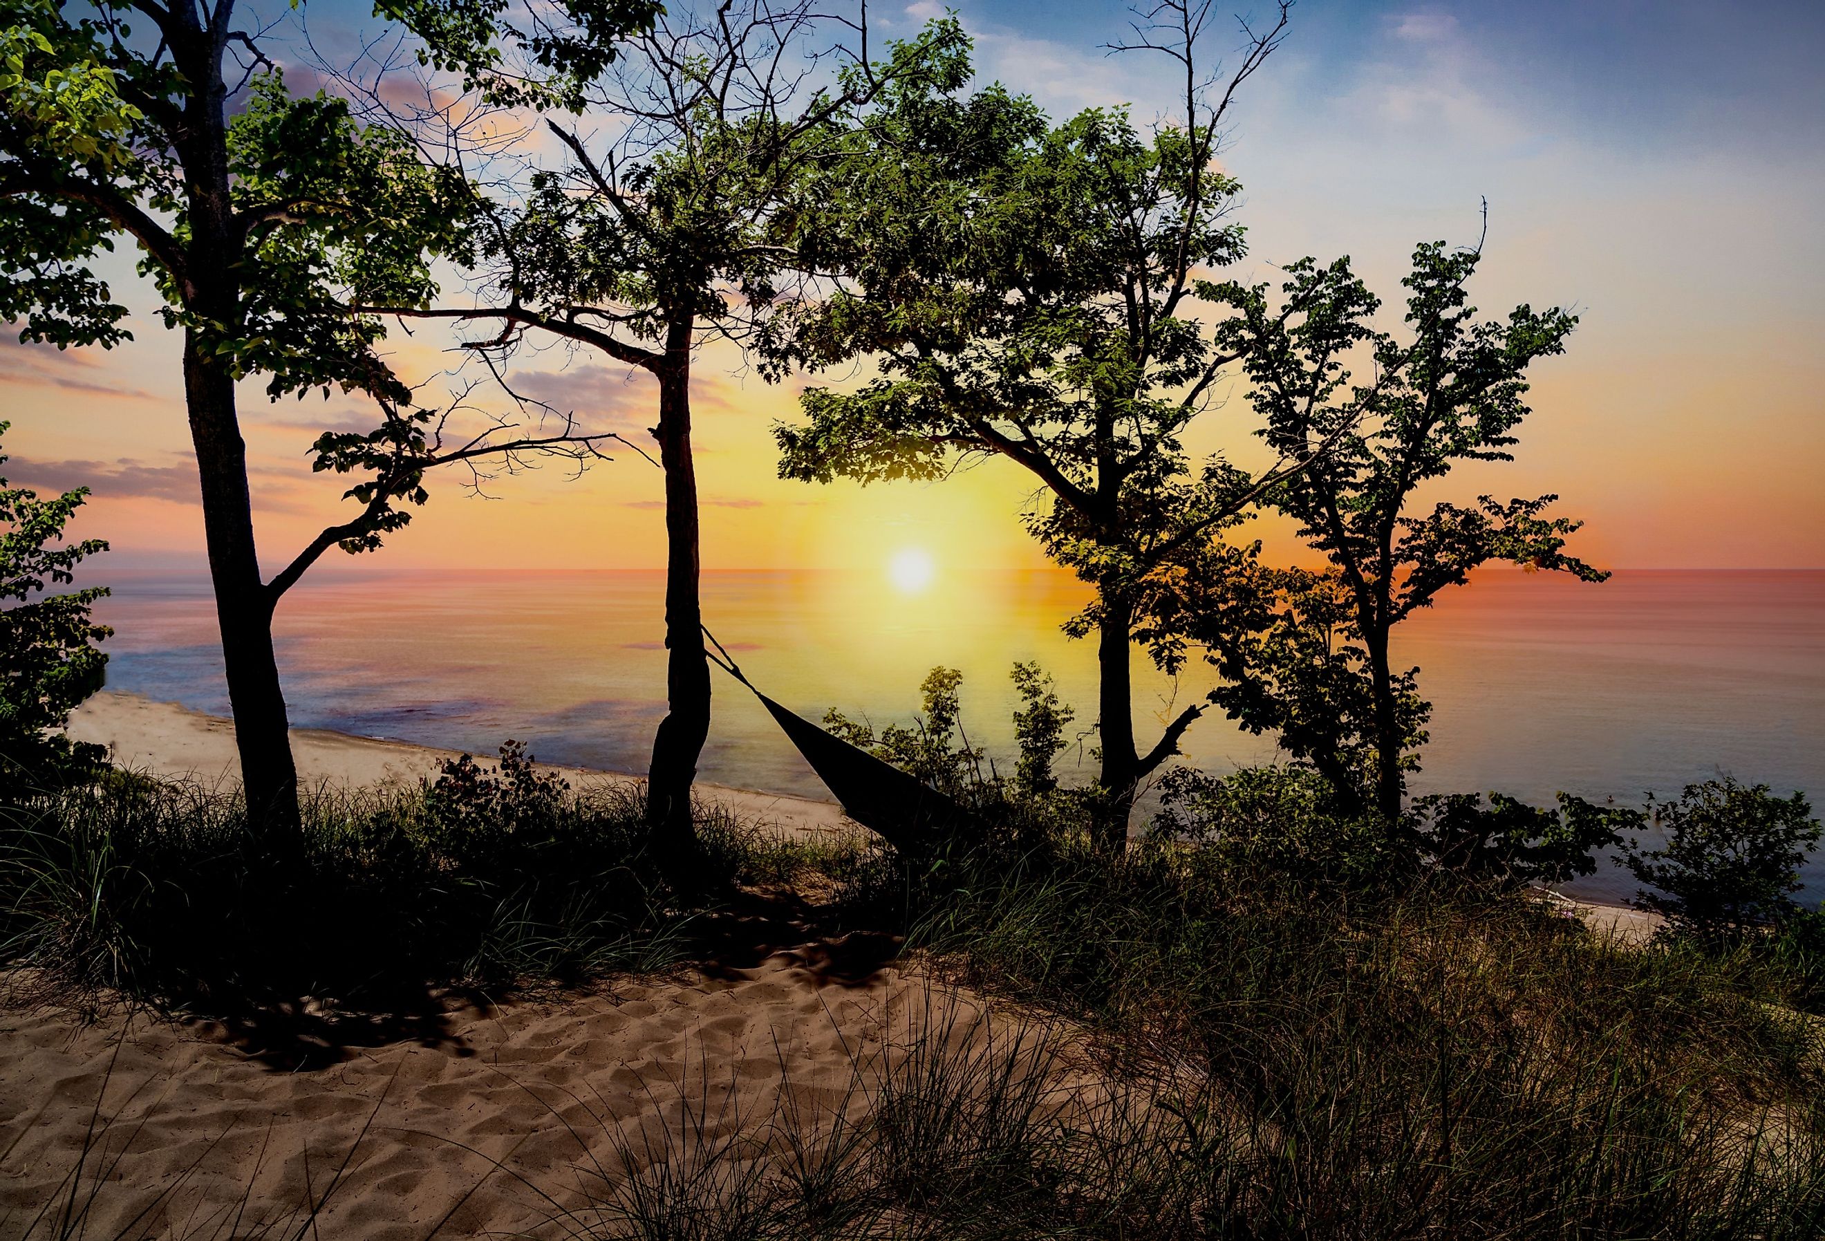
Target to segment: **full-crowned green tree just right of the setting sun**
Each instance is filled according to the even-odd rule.
[[[1132,47],[1183,75],[1183,111],[1142,133],[1126,111],[1060,126],[995,86],[969,97],[907,84],[852,135],[814,186],[805,250],[838,279],[781,343],[798,361],[867,358],[858,391],[810,389],[805,422],[777,429],[779,473],[863,484],[944,478],[1002,456],[1048,500],[1027,515],[1058,564],[1095,586],[1068,628],[1097,635],[1097,730],[1110,843],[1139,783],[1199,717],[1190,706],[1141,750],[1132,646],[1175,672],[1186,579],[1228,577],[1239,551],[1215,535],[1268,476],[1194,462],[1184,431],[1237,356],[1195,318],[1217,285],[1203,272],[1243,254],[1228,217],[1237,182],[1214,166],[1237,88],[1279,46],[1287,5],[1221,84],[1201,77],[1208,4],[1163,4]],[[1290,314],[1298,314],[1292,308]]]

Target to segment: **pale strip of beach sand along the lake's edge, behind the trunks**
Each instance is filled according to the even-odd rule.
[[[137,694],[104,690],[69,717],[69,735],[93,741],[113,752],[115,763],[159,776],[184,776],[203,781],[239,779],[241,765],[234,748],[234,723],[204,715],[175,703],[153,703]],[[350,737],[319,728],[292,730],[292,756],[297,776],[308,785],[416,785],[434,776],[456,750],[434,750],[405,741]],[[487,756],[476,756],[487,759]],[[546,766],[540,763],[540,766]],[[551,766],[573,783],[642,783],[639,776],[617,776],[580,766]],[[845,832],[856,825],[832,801],[812,801],[788,794],[697,785],[697,796],[725,807],[743,819],[772,823],[807,832]]]

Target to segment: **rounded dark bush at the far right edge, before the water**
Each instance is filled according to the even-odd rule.
[[[1805,794],[1776,798],[1767,785],[1736,777],[1686,785],[1677,801],[1648,798],[1659,849],[1630,840],[1630,874],[1653,891],[1637,903],[1681,933],[1725,936],[1779,923],[1799,912],[1799,863],[1820,840]]]

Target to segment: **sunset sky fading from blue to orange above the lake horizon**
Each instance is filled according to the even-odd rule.
[[[1257,5],[1263,7],[1263,5]],[[319,47],[376,24],[310,0]],[[874,5],[887,33],[942,9]],[[1110,55],[1124,9],[1091,0],[960,0],[984,80],[1031,93],[1055,117],[1128,102],[1152,120],[1172,100],[1144,53]],[[1219,13],[1223,5],[1219,5]],[[1217,20],[1214,53],[1239,44]],[[1396,301],[1414,243],[1475,243],[1473,299],[1580,316],[1564,358],[1533,372],[1535,414],[1517,462],[1460,471],[1440,498],[1557,493],[1586,518],[1577,549],[1606,568],[1825,568],[1825,7],[1816,4],[1299,0],[1283,49],[1234,111],[1225,166],[1245,186],[1245,279],[1299,256],[1352,256]],[[113,352],[0,343],[0,473],[38,489],[88,485],[77,533],[115,566],[197,564],[195,469],[179,341],[122,259],[117,292],[137,339]],[[456,363],[436,330],[389,343],[403,374]],[[518,385],[642,442],[653,389],[600,356],[548,349]],[[708,569],[863,569],[918,549],[938,566],[1044,564],[1018,524],[1031,495],[1011,464],[942,484],[807,485],[774,474],[770,425],[803,378],[745,374],[710,349],[697,365],[703,564]],[[845,376],[814,381],[843,383]],[[1190,445],[1248,464],[1259,453],[1232,385]],[[308,469],[323,429],[367,429],[352,400],[268,403],[243,391],[266,571],[338,520],[341,487]],[[473,495],[451,476],[389,538],[374,568],[657,568],[659,471],[633,453],[582,476],[546,469]],[[1290,535],[1259,522],[1272,549]]]

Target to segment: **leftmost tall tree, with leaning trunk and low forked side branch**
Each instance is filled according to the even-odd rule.
[[[498,77],[491,36],[504,0],[396,7],[429,27],[431,58]],[[602,0],[604,13],[622,9],[650,5]],[[0,0],[0,316],[22,323],[24,339],[117,345],[130,336],[128,310],[95,261],[117,237],[139,246],[164,325],[182,334],[250,821],[285,830],[297,823],[297,787],[272,648],[279,597],[328,548],[372,549],[403,526],[402,506],[425,498],[425,469],[577,438],[496,425],[449,447],[442,422],[411,407],[374,349],[380,323],[347,307],[431,296],[431,259],[462,245],[462,177],[425,164],[396,133],[358,126],[341,99],[288,95],[261,33],[241,24],[234,0]],[[575,40],[544,33],[520,42],[535,62],[579,55]],[[360,513],[272,580],[261,577],[235,407],[235,381],[250,374],[265,374],[274,398],[341,389],[381,405],[372,434],[318,443],[318,469],[372,471],[349,493]]]

